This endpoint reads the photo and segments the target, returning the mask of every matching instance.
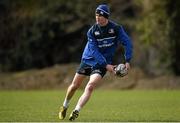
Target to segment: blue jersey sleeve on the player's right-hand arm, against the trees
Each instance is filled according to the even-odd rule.
[[[119,29],[118,29],[118,41],[125,48],[126,62],[130,62],[130,60],[132,58],[132,51],[133,51],[132,41],[122,26],[119,26]]]

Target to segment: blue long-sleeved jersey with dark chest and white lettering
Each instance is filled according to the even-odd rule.
[[[109,21],[104,27],[94,24],[87,32],[88,41],[82,55],[82,62],[92,67],[106,67],[112,59],[118,44],[125,48],[125,59],[132,57],[132,42],[122,26]]]

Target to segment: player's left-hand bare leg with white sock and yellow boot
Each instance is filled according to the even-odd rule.
[[[67,92],[66,92],[66,97],[64,99],[63,106],[60,108],[59,112],[59,119],[64,119],[66,116],[66,111],[69,105],[69,101],[74,95],[75,91],[80,87],[82,81],[84,80],[85,75],[81,75],[76,73],[74,76],[74,79],[72,83],[69,85]]]

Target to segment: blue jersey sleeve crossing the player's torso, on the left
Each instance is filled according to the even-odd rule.
[[[100,66],[106,67],[107,61],[105,57],[99,52],[97,40],[95,39],[93,35],[93,31],[91,29],[87,32],[87,37],[88,37],[88,43],[89,43],[88,46],[89,46],[89,49],[93,58],[97,61],[97,63]]]

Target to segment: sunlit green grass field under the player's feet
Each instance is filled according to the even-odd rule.
[[[67,116],[81,93],[75,94]],[[0,121],[58,122],[64,94],[65,90],[0,91]],[[96,90],[76,121],[180,121],[180,91]]]

